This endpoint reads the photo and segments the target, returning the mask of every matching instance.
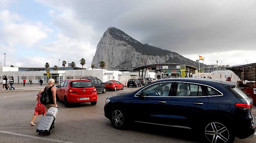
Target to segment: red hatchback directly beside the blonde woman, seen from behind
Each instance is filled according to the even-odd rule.
[[[96,88],[87,79],[67,79],[57,85],[56,97],[63,100],[65,107],[69,103],[90,102],[92,105],[97,103]]]

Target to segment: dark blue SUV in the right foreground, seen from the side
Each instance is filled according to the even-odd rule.
[[[236,84],[198,78],[157,80],[135,92],[108,97],[105,117],[117,129],[132,122],[195,129],[212,143],[253,137],[253,101]]]

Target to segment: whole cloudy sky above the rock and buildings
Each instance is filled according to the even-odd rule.
[[[6,66],[85,58],[88,67],[114,26],[194,61],[247,64],[256,63],[255,22],[255,0],[0,0],[0,49]]]

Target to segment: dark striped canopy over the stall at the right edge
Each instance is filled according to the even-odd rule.
[[[227,68],[233,71],[241,80],[256,81],[256,63]]]

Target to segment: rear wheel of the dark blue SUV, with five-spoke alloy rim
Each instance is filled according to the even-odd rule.
[[[235,139],[230,125],[218,120],[205,123],[204,135],[209,143],[233,143]]]

